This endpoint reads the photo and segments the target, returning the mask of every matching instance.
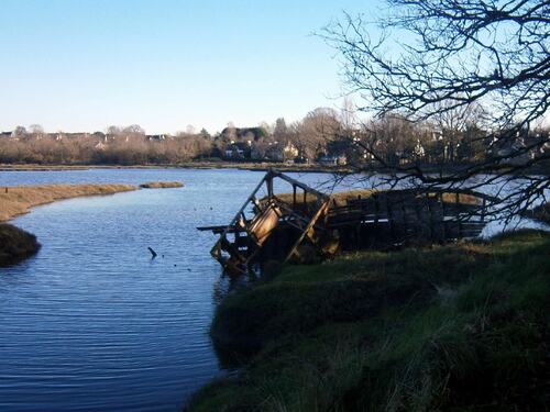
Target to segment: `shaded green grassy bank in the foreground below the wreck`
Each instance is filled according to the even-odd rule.
[[[211,334],[255,355],[189,411],[543,411],[550,235],[285,266]]]

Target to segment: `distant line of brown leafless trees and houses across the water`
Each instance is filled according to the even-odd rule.
[[[273,162],[323,165],[454,165],[485,162],[518,147],[548,141],[548,127],[522,127],[499,142],[484,122],[484,110],[469,105],[442,110],[425,122],[397,113],[360,122],[350,102],[341,111],[319,108],[287,124],[237,127],[230,123],[210,135],[195,132],[146,134],[139,125],[109,126],[95,133],[46,133],[40,125],[0,134],[0,163],[40,165],[167,165],[188,162]],[[375,147],[376,151],[372,151]],[[369,149],[366,149],[369,148]],[[526,151],[526,162],[539,155]],[[376,153],[376,156],[373,156]]]

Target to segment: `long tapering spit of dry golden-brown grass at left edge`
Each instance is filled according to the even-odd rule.
[[[56,200],[82,196],[113,194],[136,190],[132,185],[45,185],[0,187],[0,221],[7,221],[29,209]]]

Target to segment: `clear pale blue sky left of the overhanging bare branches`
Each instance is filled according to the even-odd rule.
[[[0,131],[216,132],[340,105],[314,32],[361,0],[0,0]]]

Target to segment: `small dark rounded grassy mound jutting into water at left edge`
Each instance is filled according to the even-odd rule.
[[[11,224],[0,223],[0,267],[16,264],[38,249],[36,236]]]

